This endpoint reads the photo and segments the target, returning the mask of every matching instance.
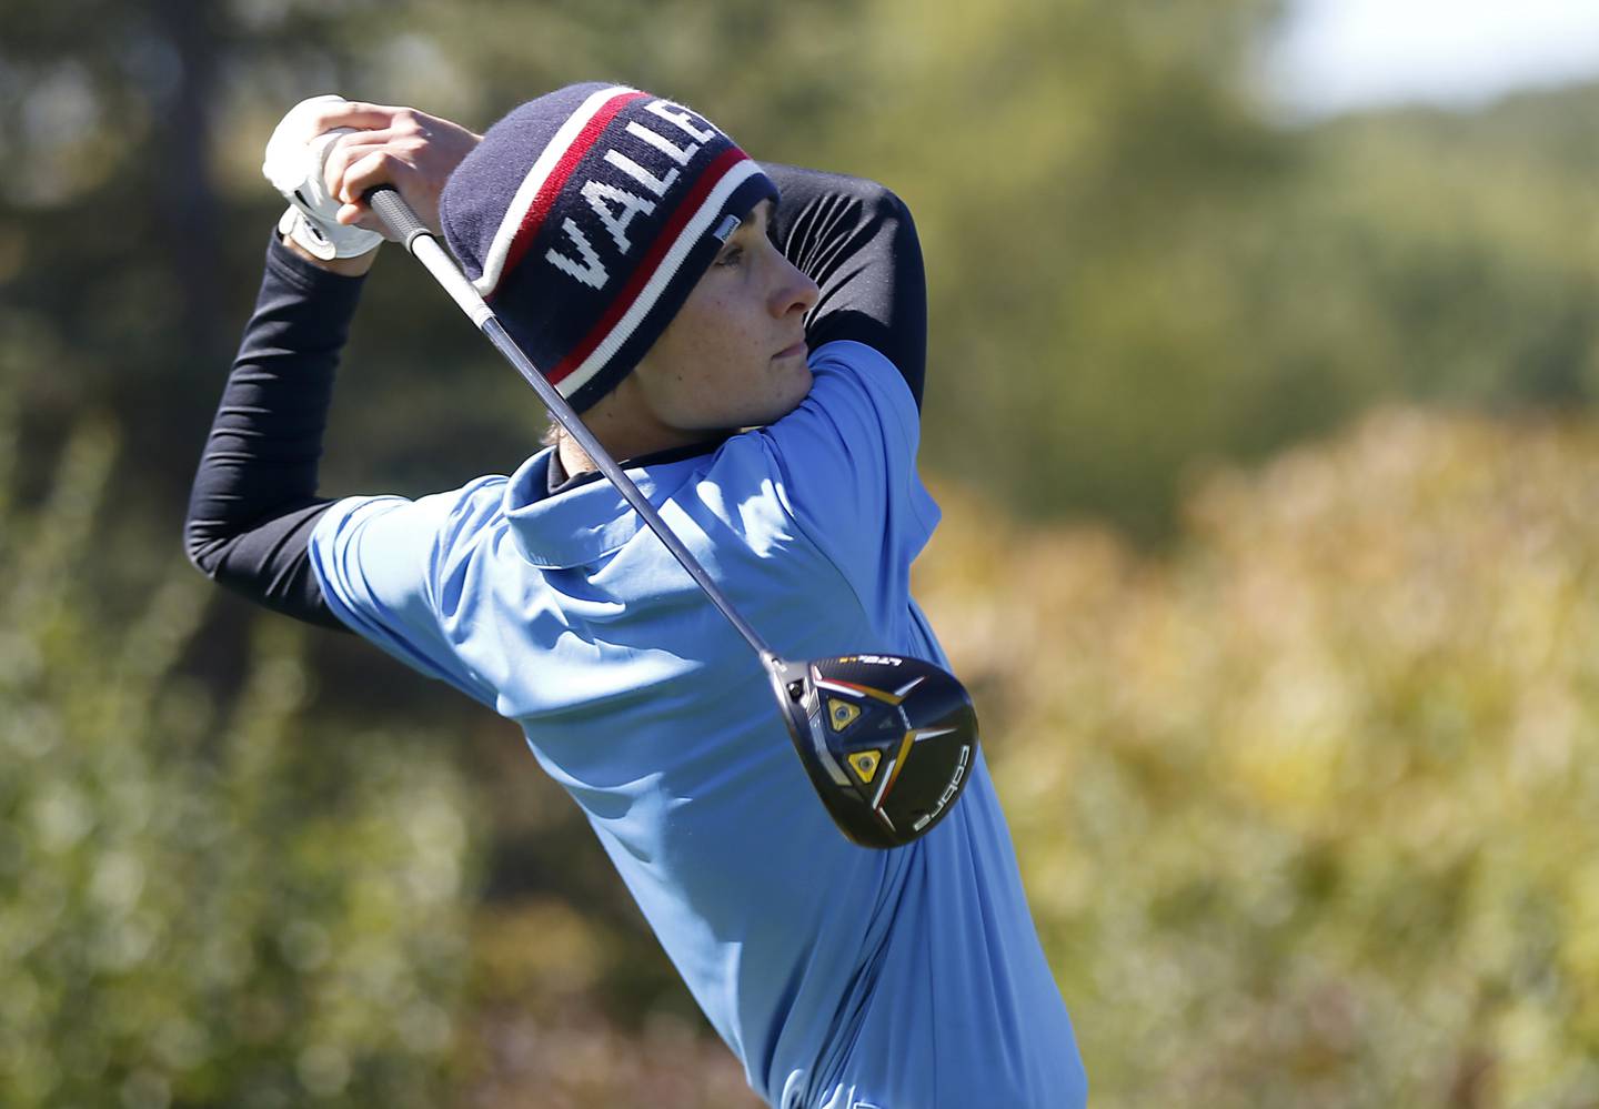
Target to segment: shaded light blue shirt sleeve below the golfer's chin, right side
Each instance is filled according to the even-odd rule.
[[[891,628],[939,523],[916,473],[916,401],[894,364],[859,342],[820,347],[811,372],[811,395],[766,430],[780,495],[873,622]]]

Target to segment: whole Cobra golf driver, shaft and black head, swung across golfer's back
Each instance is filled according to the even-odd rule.
[[[937,825],[964,789],[977,756],[977,713],[961,682],[932,663],[900,655],[779,658],[534,368],[400,193],[381,185],[366,193],[366,201],[755,649],[800,762],[844,836],[862,847],[902,847]]]

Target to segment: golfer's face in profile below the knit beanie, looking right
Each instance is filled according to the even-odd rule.
[[[760,427],[811,392],[804,313],[815,283],[772,244],[761,201],[728,237],[635,374],[656,415],[683,430]]]

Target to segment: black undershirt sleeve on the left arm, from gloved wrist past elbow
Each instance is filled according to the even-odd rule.
[[[273,233],[184,524],[189,559],[208,577],[269,609],[339,630],[307,543],[331,503],[317,495],[317,463],[363,281],[296,257]]]

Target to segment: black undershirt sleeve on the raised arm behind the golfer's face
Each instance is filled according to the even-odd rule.
[[[812,350],[835,339],[873,347],[905,376],[921,407],[927,280],[910,209],[862,177],[761,168],[782,192],[772,241],[822,289],[806,320],[806,342]]]

